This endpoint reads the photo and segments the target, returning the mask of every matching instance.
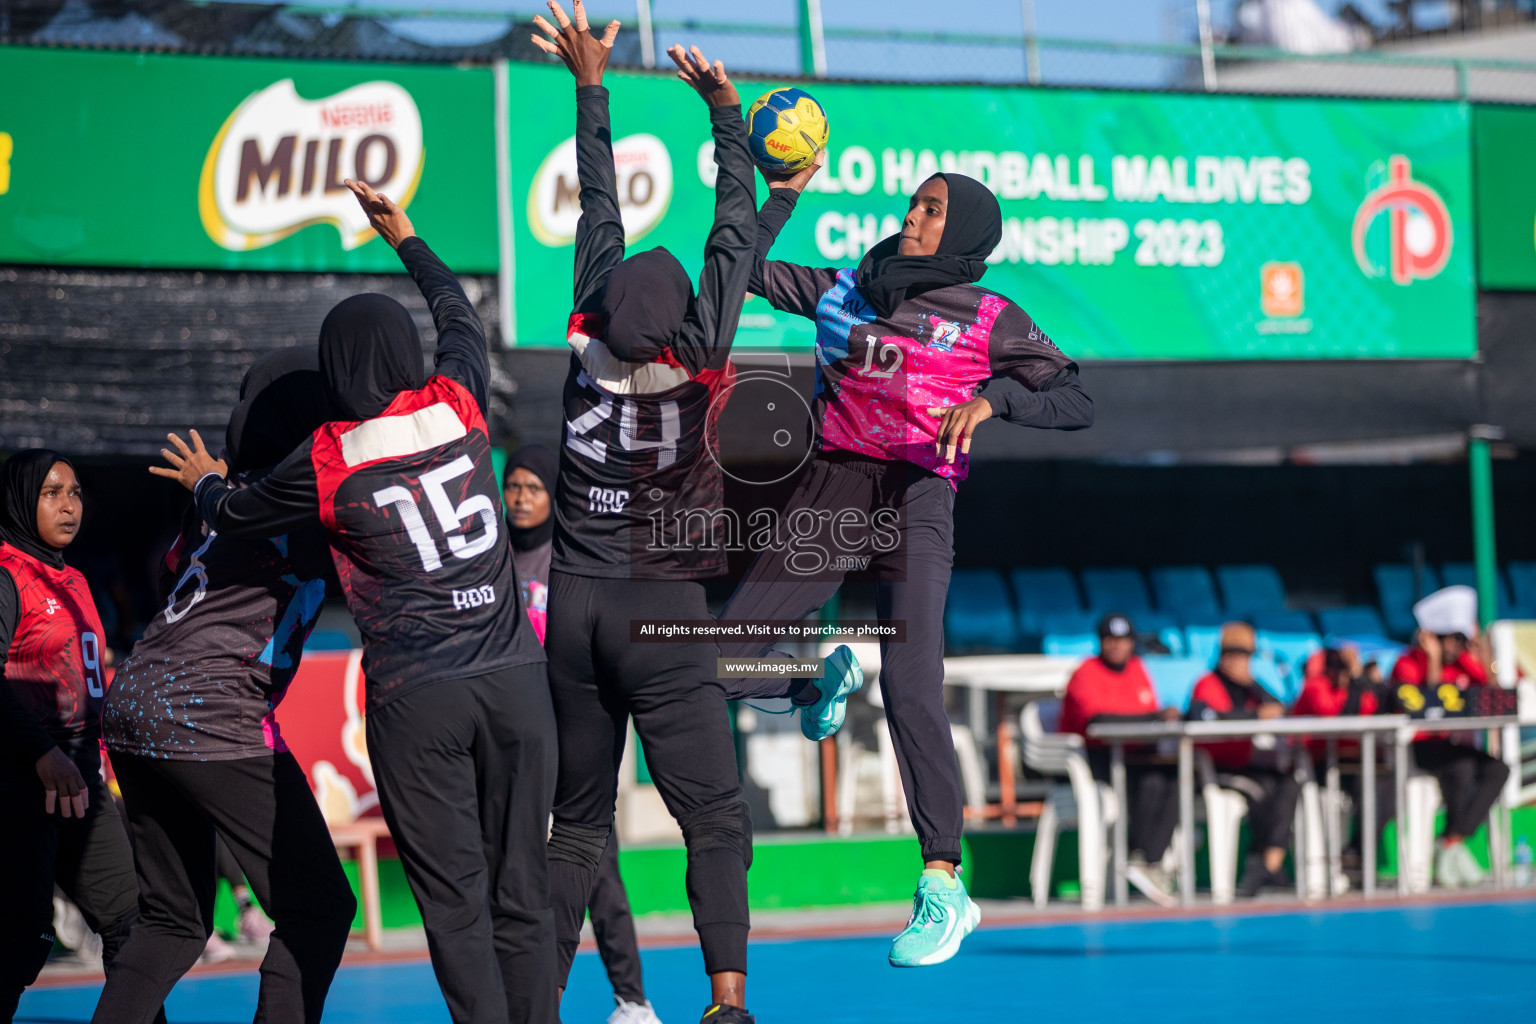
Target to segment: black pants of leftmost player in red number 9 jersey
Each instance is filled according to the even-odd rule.
[[[112,794],[101,781],[97,742],[65,751],[86,778],[84,818],[43,814],[43,783],[31,765],[0,763],[0,1022],[9,1024],[26,986],[54,949],[54,886],[101,936],[108,978],[138,920],[134,855]],[[0,754],[3,757],[3,754]],[[160,1004],[151,1018],[164,1021]]]

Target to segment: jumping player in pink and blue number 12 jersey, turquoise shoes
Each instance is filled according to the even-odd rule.
[[[943,609],[954,562],[954,493],[969,470],[971,434],[1000,416],[1023,427],[1081,430],[1094,404],[1077,364],[1008,298],[978,287],[1003,232],[997,200],[980,181],[937,173],[911,197],[899,236],[857,269],[802,267],[766,253],[816,169],[770,180],[757,215],[751,290],[774,309],[816,321],[816,416],[820,451],[786,508],[820,517],[826,551],[865,554],[882,620],[905,623],[882,642],[880,691],[922,844],[912,918],[891,964],[943,963],[980,921],[960,884],[963,797],[943,702]],[[989,381],[998,384],[982,390]],[[886,511],[889,510],[889,511]],[[882,516],[894,516],[889,527]],[[849,530],[848,524],[872,524]],[[813,540],[802,537],[803,543]],[[796,545],[765,550],[720,620],[799,620],[826,603],[842,571],[803,571]],[[811,560],[813,568],[823,562]],[[840,565],[846,562],[829,562]],[[768,645],[720,645],[725,657],[759,657]],[[831,735],[848,694],[863,682],[839,648],[819,682],[730,680],[731,697],[791,697],[808,738]]]

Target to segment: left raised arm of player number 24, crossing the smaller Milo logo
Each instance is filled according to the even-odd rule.
[[[581,218],[576,221],[573,309],[588,307],[602,295],[602,281],[624,259],[624,221],[619,216],[619,186],[613,173],[613,129],[608,124],[608,91],[602,72],[613,55],[619,23],[608,21],[602,38],[587,31],[587,8],[571,5],[574,21],[551,0],[550,14],[559,29],[544,20],[533,23],[548,38],[533,45],[559,57],[576,77],[576,181],[581,186]]]

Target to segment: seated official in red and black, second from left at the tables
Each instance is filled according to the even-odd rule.
[[[1255,648],[1253,626],[1246,622],[1229,622],[1221,628],[1221,656],[1217,668],[1195,683],[1189,700],[1190,718],[1278,718],[1286,714],[1286,708],[1253,679]],[[1201,746],[1215,761],[1221,785],[1236,789],[1249,801],[1252,841],[1238,894],[1255,897],[1266,886],[1289,889],[1286,847],[1301,788],[1295,772],[1283,768],[1283,751],[1276,746],[1255,749],[1256,745],[1247,740]]]

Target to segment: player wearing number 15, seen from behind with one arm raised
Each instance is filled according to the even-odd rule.
[[[157,470],[194,488],[221,536],[326,527],[362,633],[367,738],[384,818],[427,927],[455,1021],[554,1021],[544,837],[554,712],[544,649],[518,602],[485,431],[479,316],[401,209],[349,183],[399,252],[438,329],[422,379],[416,325],[395,299],[339,302],[319,368],[343,416],[260,482],[172,436]]]

